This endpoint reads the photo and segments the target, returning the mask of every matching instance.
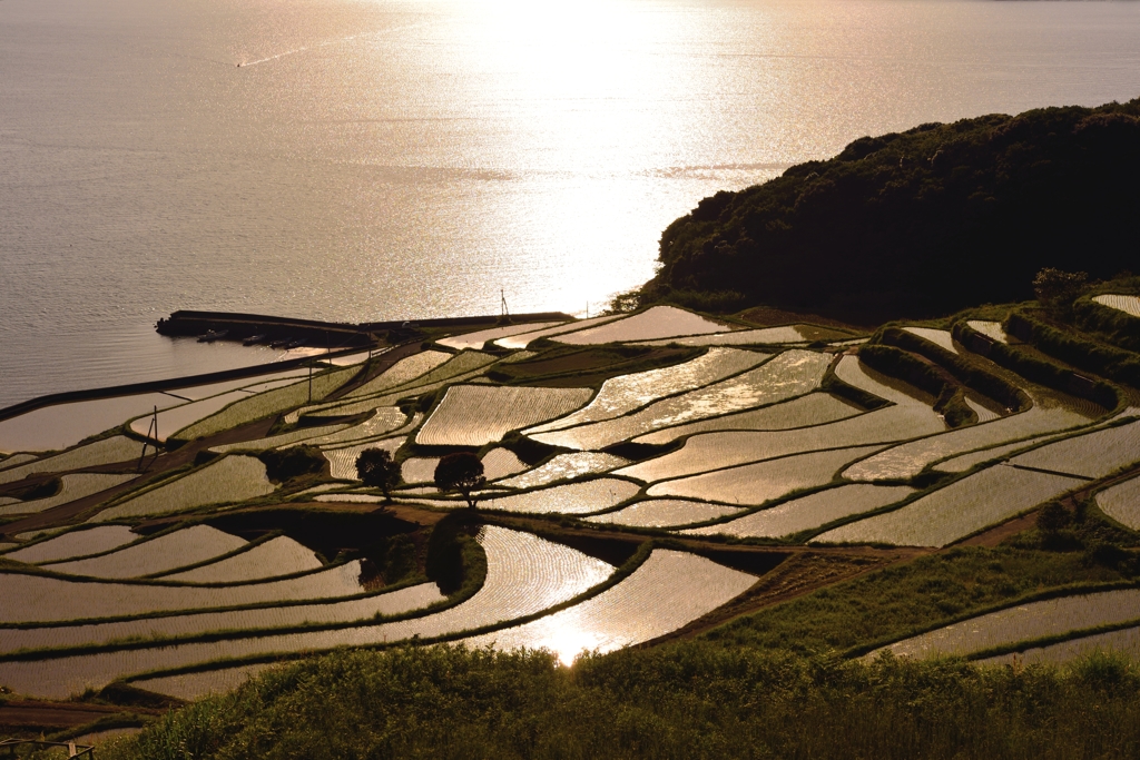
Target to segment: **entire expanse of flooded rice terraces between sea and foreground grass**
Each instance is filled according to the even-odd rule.
[[[911,332],[980,361],[946,330]],[[189,389],[160,411],[157,438],[171,442],[141,463],[149,420],[128,416],[85,444],[0,460],[0,514],[13,521],[0,526],[0,654],[24,649],[0,662],[0,683],[63,697],[128,678],[198,694],[266,657],[417,636],[570,661],[715,618],[789,544],[858,566],[844,553],[934,550],[1077,489],[1121,525],[1140,522],[1140,479],[1114,474],[1140,461],[1132,407],[1097,412],[1026,381],[1031,409],[1000,416],[970,389],[978,422],[948,430],[929,394],[860,363],[863,338],[673,307],[437,337],[391,366],[377,354],[316,371],[311,395],[307,369]],[[391,456],[389,493],[358,480],[366,449]],[[457,451],[482,466],[475,510],[433,483]],[[351,520],[373,522],[334,530]],[[442,549],[437,530],[472,544]],[[650,550],[651,534],[675,544]],[[1109,597],[1080,597],[1093,598]],[[1076,599],[1029,605],[1054,610],[1037,628],[997,612],[913,646],[977,639],[991,620],[1004,632],[947,651],[1032,649],[1072,631],[1084,643],[1050,639],[1034,656],[1099,636],[1130,646],[1085,629],[1140,614]],[[201,672],[149,675],[171,669]]]

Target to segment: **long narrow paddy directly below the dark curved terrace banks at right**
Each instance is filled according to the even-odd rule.
[[[1083,416],[1067,409],[1045,409],[1035,406],[1011,417],[960,427],[940,435],[896,446],[855,464],[844,473],[844,477],[856,481],[913,477],[938,459],[1031,435],[1062,431],[1088,422]],[[1140,453],[1137,456],[1140,457]]]

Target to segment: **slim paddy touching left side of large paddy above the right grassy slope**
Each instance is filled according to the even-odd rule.
[[[914,492],[906,485],[840,485],[805,496],[731,522],[683,531],[690,536],[781,538],[901,501]]]

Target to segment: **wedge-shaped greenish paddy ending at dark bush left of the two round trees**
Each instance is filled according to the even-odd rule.
[[[272,493],[275,488],[266,476],[266,466],[260,459],[228,455],[108,507],[97,514],[92,522],[244,501]]]

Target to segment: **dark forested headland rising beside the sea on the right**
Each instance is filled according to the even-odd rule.
[[[641,296],[928,317],[1033,297],[1043,267],[1134,269],[1138,228],[1140,99],[923,124],[701,201]]]

